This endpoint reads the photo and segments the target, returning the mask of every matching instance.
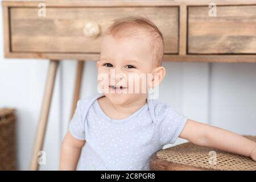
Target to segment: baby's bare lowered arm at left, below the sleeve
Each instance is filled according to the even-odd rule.
[[[84,144],[85,140],[78,140],[69,132],[65,135],[61,145],[60,170],[76,170]]]

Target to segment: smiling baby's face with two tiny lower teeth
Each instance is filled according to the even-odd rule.
[[[113,104],[119,105],[146,99],[147,76],[156,67],[154,63],[148,40],[105,36],[101,42],[100,60],[97,61],[102,92]],[[107,80],[99,79],[104,75]]]

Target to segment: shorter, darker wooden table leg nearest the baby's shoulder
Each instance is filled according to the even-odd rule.
[[[84,62],[83,60],[77,61],[77,71],[76,71],[76,82],[75,82],[75,89],[73,93],[73,105],[71,110],[71,119],[73,117],[73,114],[76,110],[77,101],[79,101],[80,97],[80,90],[81,90],[81,84],[82,84],[82,72],[84,70]]]

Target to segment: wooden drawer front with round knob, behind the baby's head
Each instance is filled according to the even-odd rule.
[[[146,15],[163,33],[165,53],[178,53],[178,7],[46,7],[10,8],[11,52],[98,53],[102,32],[113,19]],[[86,23],[98,25],[98,36],[86,36]],[[97,26],[96,26],[97,27]]]

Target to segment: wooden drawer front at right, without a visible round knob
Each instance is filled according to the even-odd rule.
[[[188,53],[256,53],[256,6],[188,7]]]

